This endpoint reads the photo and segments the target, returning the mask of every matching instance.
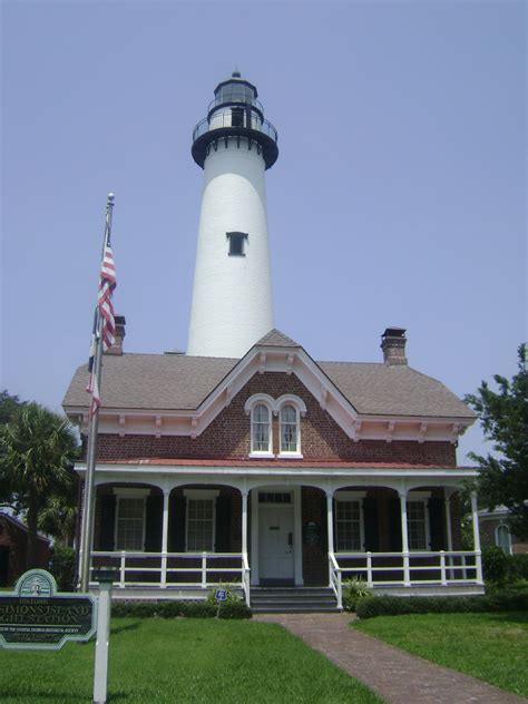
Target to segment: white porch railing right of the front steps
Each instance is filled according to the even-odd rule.
[[[334,574],[339,568],[340,577],[359,576],[369,587],[483,584],[480,550],[331,553],[329,558]],[[331,586],[332,579],[331,567]]]

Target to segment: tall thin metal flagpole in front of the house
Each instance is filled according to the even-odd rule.
[[[106,204],[105,236],[102,239],[102,254],[110,241],[111,233],[111,215],[114,209],[114,194],[108,194]],[[102,323],[104,319],[100,311],[97,314],[96,327],[96,352],[94,360],[94,384],[96,389],[100,388],[101,366],[102,366]],[[90,414],[88,429],[88,453],[86,461],[85,476],[85,497],[82,501],[82,530],[80,539],[81,559],[80,559],[80,590],[88,591],[90,584],[90,557],[91,541],[94,535],[94,499],[96,485],[96,456],[97,456],[97,431],[99,428],[99,409]]]

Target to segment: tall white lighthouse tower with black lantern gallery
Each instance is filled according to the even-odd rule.
[[[265,170],[278,156],[257,90],[238,71],[193,133],[204,169],[187,354],[239,358],[273,327]]]

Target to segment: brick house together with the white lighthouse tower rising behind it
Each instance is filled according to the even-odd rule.
[[[408,365],[319,362],[274,329],[264,174],[278,155],[257,91],[222,81],[193,135],[205,184],[187,354],[104,358],[92,565],[116,598],[204,598],[234,583],[255,608],[341,607],[359,575],[393,594],[482,591],[462,550],[457,467],[473,413]],[[86,366],[63,400],[86,448]],[[82,478],[86,462],[77,471]]]

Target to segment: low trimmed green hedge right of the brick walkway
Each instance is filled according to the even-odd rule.
[[[502,590],[482,596],[368,596],[358,602],[359,618],[401,614],[528,612],[528,593]]]

